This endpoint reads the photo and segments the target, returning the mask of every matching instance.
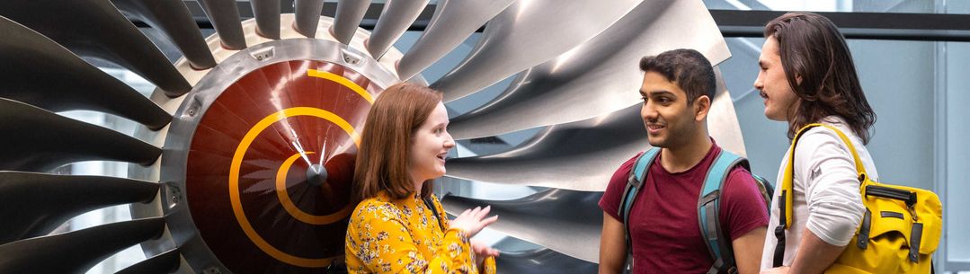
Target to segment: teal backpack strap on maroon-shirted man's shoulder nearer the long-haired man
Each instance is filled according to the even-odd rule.
[[[721,226],[721,188],[727,180],[727,174],[737,165],[747,167],[748,160],[728,151],[722,150],[707,170],[704,185],[697,198],[697,223],[700,234],[714,264],[707,273],[737,273],[734,253]]]

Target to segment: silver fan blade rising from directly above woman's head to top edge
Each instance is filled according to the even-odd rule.
[[[438,1],[428,28],[401,58],[398,75],[406,80],[421,73],[513,1]]]

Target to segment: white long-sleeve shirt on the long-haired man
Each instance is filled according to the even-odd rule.
[[[839,129],[852,140],[866,175],[878,181],[879,173],[869,151],[862,145],[862,140],[845,125],[844,120],[830,116],[824,119],[823,124]],[[794,216],[792,227],[785,233],[784,265],[792,265],[805,228],[828,244],[845,246],[855,235],[865,212],[859,194],[855,161],[848,146],[835,132],[823,127],[813,128],[798,140],[794,150]],[[778,170],[778,179],[775,181],[771,217],[761,256],[762,270],[771,268],[774,261],[775,245],[778,242],[774,234],[779,223],[778,196],[790,153],[791,148],[785,153]]]

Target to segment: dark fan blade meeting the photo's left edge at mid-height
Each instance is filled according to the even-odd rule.
[[[0,98],[0,169],[47,171],[108,160],[149,165],[162,150],[134,137]]]

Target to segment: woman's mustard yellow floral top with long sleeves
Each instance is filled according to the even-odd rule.
[[[444,228],[448,219],[437,197],[432,200]],[[475,266],[464,231],[439,227],[435,214],[417,196],[392,199],[386,192],[361,201],[347,227],[347,270],[350,273],[485,273],[495,274],[495,258]],[[479,271],[481,270],[481,271]]]

